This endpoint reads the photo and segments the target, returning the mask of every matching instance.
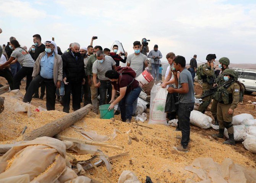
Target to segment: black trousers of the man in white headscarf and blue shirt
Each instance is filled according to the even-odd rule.
[[[46,109],[47,110],[55,110],[55,91],[56,86],[54,84],[53,79],[45,79],[40,74],[37,75],[29,84],[28,90],[24,96],[23,102],[31,102],[32,96],[35,90],[40,86],[40,84],[44,83],[46,87]]]

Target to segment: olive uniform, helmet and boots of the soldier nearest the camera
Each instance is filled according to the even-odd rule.
[[[235,73],[232,69],[225,69],[223,72],[224,75],[231,75]],[[233,75],[231,75],[233,76]],[[235,76],[233,76],[235,77]],[[219,134],[215,134],[215,137],[223,137],[224,129],[228,130],[229,139],[225,141],[225,144],[235,144],[234,140],[234,127],[232,125],[233,114],[228,114],[228,110],[234,110],[237,107],[240,97],[240,86],[235,81],[228,88],[228,104],[224,104],[223,101],[220,101],[217,104],[217,120],[219,121]]]

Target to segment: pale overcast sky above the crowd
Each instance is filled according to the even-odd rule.
[[[187,63],[209,53],[256,63],[254,0],[0,0],[0,28],[1,45],[14,36],[29,48],[40,34],[42,41],[55,37],[64,52],[71,42],[87,47],[98,36],[93,46],[119,40],[130,54],[133,42],[146,37],[150,50],[159,46],[162,62],[174,52]]]

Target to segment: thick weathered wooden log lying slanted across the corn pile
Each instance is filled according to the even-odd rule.
[[[60,133],[62,130],[73,125],[76,121],[86,116],[91,111],[91,109],[92,105],[87,104],[81,109],[78,109],[72,113],[65,115],[62,118],[54,120],[47,125],[31,131],[31,133],[24,135],[24,140],[29,141],[43,136],[53,137],[54,135]]]

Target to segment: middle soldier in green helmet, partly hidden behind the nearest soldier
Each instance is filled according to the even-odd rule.
[[[228,69],[228,65],[229,65],[229,59],[227,57],[222,57],[219,59],[219,68],[220,68],[220,73],[219,73],[219,76],[217,77],[217,79],[215,80],[215,84],[213,85],[214,87],[215,86],[218,86],[220,84],[223,84],[224,83],[224,78],[223,78],[223,72],[225,69]],[[214,97],[213,97],[214,98]],[[212,113],[212,116],[214,117],[214,120],[215,120],[215,124],[214,125],[219,125],[219,122],[217,120],[217,104],[218,104],[218,101],[213,99],[212,100],[212,106],[211,106],[211,113]]]

